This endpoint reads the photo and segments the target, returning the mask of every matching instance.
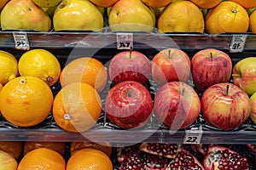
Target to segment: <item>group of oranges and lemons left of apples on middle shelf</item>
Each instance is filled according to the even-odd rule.
[[[32,127],[52,112],[55,122],[69,132],[94,126],[102,113],[99,93],[108,74],[97,59],[74,59],[61,70],[59,59],[46,49],[35,48],[14,56],[0,51],[0,111],[19,127]],[[61,83],[54,95],[51,87]]]

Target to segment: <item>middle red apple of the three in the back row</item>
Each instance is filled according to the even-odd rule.
[[[172,81],[187,82],[190,74],[189,56],[178,48],[163,49],[152,59],[151,73],[158,85]]]

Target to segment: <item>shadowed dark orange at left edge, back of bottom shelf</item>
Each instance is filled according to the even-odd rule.
[[[20,141],[0,141],[0,150],[3,150],[9,155],[14,156],[16,160],[20,158],[23,149],[23,142]],[[1,169],[1,168],[0,168]]]

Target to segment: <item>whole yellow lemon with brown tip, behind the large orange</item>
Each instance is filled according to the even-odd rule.
[[[61,65],[54,54],[45,49],[32,49],[22,54],[18,63],[20,76],[42,79],[52,86],[61,74]]]

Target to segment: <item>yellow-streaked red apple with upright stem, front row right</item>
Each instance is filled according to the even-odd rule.
[[[234,129],[247,120],[250,112],[248,95],[233,83],[214,84],[202,94],[201,114],[215,127]]]

